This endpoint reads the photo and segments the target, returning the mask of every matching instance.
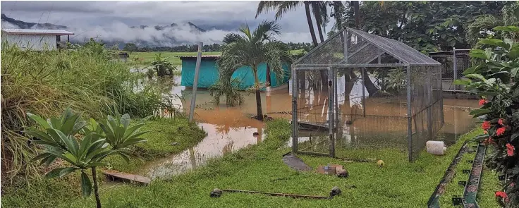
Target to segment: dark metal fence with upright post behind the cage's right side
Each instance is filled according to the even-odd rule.
[[[454,85],[453,81],[463,78],[463,71],[470,68],[470,49],[453,49],[429,53],[432,59],[441,63],[442,89],[451,92],[467,92],[463,85]]]

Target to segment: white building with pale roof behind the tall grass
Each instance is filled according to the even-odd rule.
[[[57,49],[61,36],[65,35],[68,42],[74,33],[66,30],[1,29],[2,43],[16,44],[20,49],[35,51]]]

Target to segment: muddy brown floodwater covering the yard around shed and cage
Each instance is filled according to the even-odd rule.
[[[179,86],[178,83],[180,82],[181,78],[179,76],[174,78],[170,85],[166,85],[164,91],[172,95],[171,101],[173,104],[179,106],[181,111],[188,112],[192,89]],[[344,89],[342,91],[338,89],[338,92],[344,92]],[[186,149],[180,154],[174,154],[156,161],[149,161],[135,173],[152,179],[173,176],[194,169],[204,164],[207,159],[219,157],[222,154],[261,142],[265,136],[263,133],[264,123],[250,118],[256,113],[255,94],[244,92],[244,96],[244,104],[228,107],[225,105],[225,101],[222,101],[219,105],[212,104],[212,97],[209,95],[209,92],[203,89],[199,90],[197,92],[195,120],[200,128],[207,132],[207,137],[195,145],[195,147]],[[300,104],[305,106],[305,111],[299,117],[306,121],[326,121],[328,108],[326,96],[326,94],[307,90],[299,101]],[[341,101],[341,97],[338,100]],[[347,103],[343,100],[344,96],[342,96],[342,102],[339,105],[346,106]],[[353,85],[353,90],[350,92],[350,102],[348,105],[350,107],[348,111],[362,111],[362,109],[353,107],[355,105],[358,106],[360,102],[362,102],[362,84],[358,82]],[[406,116],[407,113],[405,111],[405,102],[384,103],[370,98],[366,99],[366,106],[367,115]],[[470,108],[477,107],[477,100],[444,99],[445,124],[441,129],[441,135],[444,139],[454,140],[459,135],[468,132],[475,122],[472,116],[469,115]],[[264,114],[274,118],[291,119],[291,93],[289,93],[288,85],[283,85],[274,90],[270,93],[270,96],[266,96],[262,92],[262,108]],[[368,116],[362,119],[362,121],[360,120],[361,122],[359,123],[375,122],[372,119],[376,118]],[[383,124],[377,123],[377,125]],[[361,127],[362,125],[359,124],[358,128]],[[402,125],[400,128],[406,127]],[[369,125],[366,128],[369,128]],[[391,128],[391,130],[394,129]],[[258,136],[253,135],[256,132],[259,133]],[[288,142],[287,145],[290,144],[291,142]]]

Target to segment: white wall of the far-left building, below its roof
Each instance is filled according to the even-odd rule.
[[[18,35],[2,32],[1,40],[8,44],[16,44],[20,49],[35,51],[56,49],[56,35]]]

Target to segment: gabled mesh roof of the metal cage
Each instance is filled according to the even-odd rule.
[[[362,44],[361,47],[357,47],[356,51],[354,51],[352,54],[348,53],[348,50],[350,49],[350,46],[348,46],[348,41],[343,41],[345,39],[344,37],[350,38],[351,42],[351,36],[355,35],[355,42],[357,42],[357,38],[362,39],[362,41],[365,44]],[[319,62],[319,61],[312,61],[314,57],[312,56],[318,56],[323,55],[323,53],[319,54],[319,50],[323,50],[326,47],[329,47],[329,49],[338,49],[338,45],[332,40],[335,40],[341,38],[341,44],[343,45],[342,52],[343,57],[341,60],[337,61],[331,61],[331,63],[313,63],[313,62]],[[330,46],[331,45],[331,46]],[[363,51],[366,53],[372,53],[372,56],[368,56],[367,59],[365,56],[362,56],[360,54],[359,56],[362,58],[365,58],[365,60],[357,61],[357,63],[351,63],[355,61],[350,61],[352,59],[352,56],[358,53],[359,51]],[[374,51],[376,50],[376,51]],[[340,50],[339,50],[340,51]],[[322,52],[322,51],[321,51]],[[330,51],[329,56],[334,56],[334,51]],[[326,52],[324,52],[326,53]],[[398,60],[397,63],[381,63],[380,62],[380,56],[382,54],[388,54],[389,56],[393,57],[394,59]],[[371,63],[374,61],[374,59],[377,59],[378,56],[378,62],[377,63]],[[348,57],[347,59],[344,59],[344,57]],[[372,59],[374,58],[374,59]],[[306,62],[306,63],[305,63]],[[350,62],[350,63],[348,63]],[[404,44],[403,42],[398,42],[394,39],[389,39],[386,37],[380,37],[378,35],[372,35],[367,32],[362,32],[360,30],[355,30],[353,28],[346,27],[339,32],[337,32],[335,35],[332,35],[326,41],[319,44],[317,47],[309,51],[305,56],[301,57],[297,61],[295,61],[292,64],[292,68],[294,70],[306,70],[306,71],[312,71],[312,70],[324,70],[327,68],[372,68],[372,67],[405,67],[405,66],[441,66],[441,63],[438,61],[435,61],[431,57],[422,54],[420,51],[417,51],[413,49],[412,47],[409,47],[408,45]]]

